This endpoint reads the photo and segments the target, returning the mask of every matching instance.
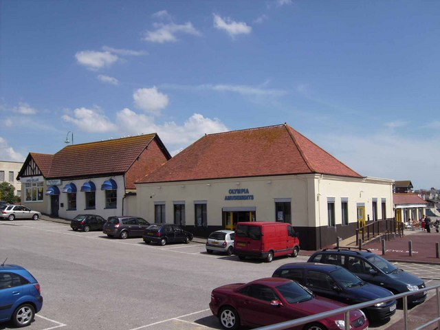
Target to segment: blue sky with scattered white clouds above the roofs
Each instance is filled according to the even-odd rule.
[[[287,122],[361,175],[440,188],[439,17],[440,1],[1,0],[1,159],[69,131],[156,132],[174,155]]]

